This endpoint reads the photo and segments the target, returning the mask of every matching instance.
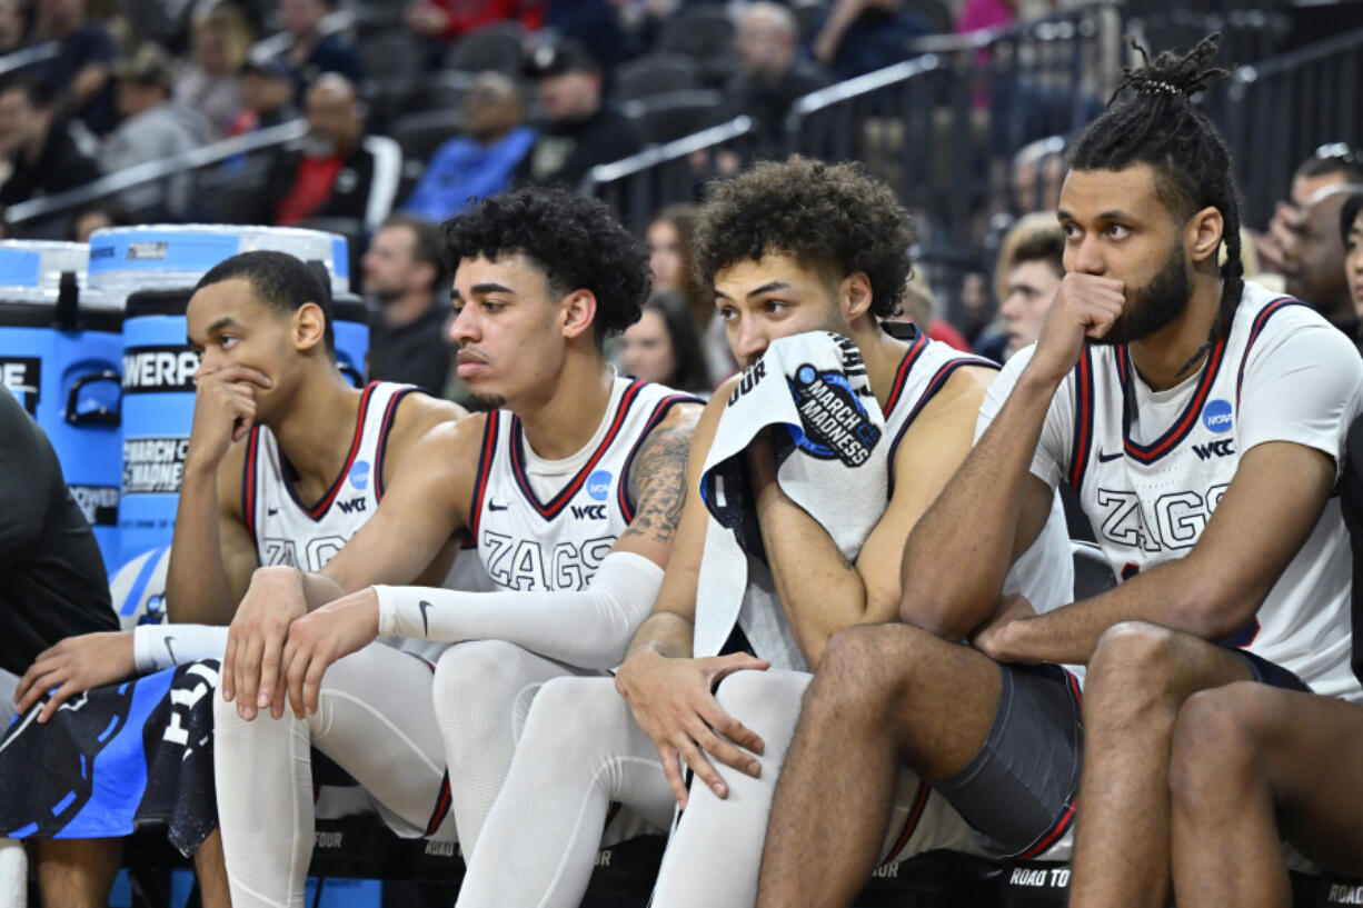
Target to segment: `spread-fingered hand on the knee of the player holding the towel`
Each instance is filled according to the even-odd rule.
[[[707,757],[748,776],[762,772],[762,765],[752,758],[762,753],[762,739],[724,712],[711,691],[725,675],[770,667],[771,663],[747,653],[668,659],[652,648],[637,650],[620,665],[615,687],[658,748],[662,770],[682,810],[687,802],[683,761],[720,798],[729,789]]]

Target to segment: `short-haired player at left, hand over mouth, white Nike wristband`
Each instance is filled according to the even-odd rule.
[[[40,725],[60,716],[57,710],[74,697],[102,684],[219,659],[226,627],[210,624],[230,620],[251,573],[281,562],[319,567],[373,513],[416,439],[463,414],[446,401],[412,394],[410,386],[352,387],[335,365],[330,292],[312,269],[282,252],[245,252],[211,269],[189,300],[187,329],[200,365],[166,577],[168,612],[176,623],[72,637],[41,653],[18,691],[19,710],[33,709]],[[339,507],[337,499],[352,507]],[[442,552],[428,577],[444,577],[453,556],[453,547]],[[206,678],[211,675],[215,671]],[[105,703],[91,695],[80,709]],[[144,735],[139,723],[127,729]],[[35,738],[34,746],[42,747],[40,740],[53,739]],[[147,740],[170,746],[159,733]],[[16,758],[26,742],[23,735],[11,738],[8,757]],[[49,766],[60,765],[55,751],[42,753]],[[94,754],[87,757],[93,762]],[[102,765],[95,765],[95,777]],[[60,815],[45,818],[41,834],[60,833],[86,810],[93,798],[89,785],[74,787],[83,793],[63,802]],[[42,798],[41,788],[30,780],[22,795],[5,799],[7,810]],[[67,791],[53,793],[53,802]],[[215,825],[211,799],[177,803],[181,808],[199,811],[196,829]],[[45,898],[63,905],[108,903],[121,840],[40,838],[37,853]],[[226,904],[215,837],[198,848],[195,859],[206,904]]]

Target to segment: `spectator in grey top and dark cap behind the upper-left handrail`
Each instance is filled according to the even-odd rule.
[[[99,147],[99,162],[109,173],[191,151],[209,138],[209,123],[194,108],[170,100],[170,55],[144,44],[119,70],[119,127]],[[170,180],[165,206],[183,214],[189,206],[194,179],[181,173]],[[153,205],[154,185],[131,190],[125,202],[136,209]]]

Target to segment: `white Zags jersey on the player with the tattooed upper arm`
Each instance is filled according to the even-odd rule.
[[[521,420],[488,413],[470,530],[492,582],[514,590],[586,589],[634,519],[630,468],[641,443],[673,405],[699,404],[661,384],[616,378],[582,466],[548,500],[526,473]]]

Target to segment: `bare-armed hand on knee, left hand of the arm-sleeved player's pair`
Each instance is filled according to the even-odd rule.
[[[237,714],[251,721],[256,710],[284,714],[281,656],[289,624],[308,611],[303,574],[296,567],[262,567],[237,605],[222,654],[222,699],[237,702]]]

